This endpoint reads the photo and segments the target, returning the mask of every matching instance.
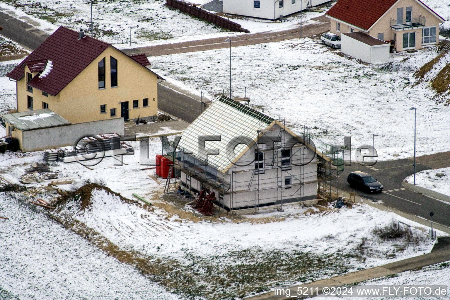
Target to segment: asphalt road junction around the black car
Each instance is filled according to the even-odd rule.
[[[433,163],[436,160],[440,161],[439,165]],[[417,161],[423,161],[423,163],[416,163],[416,172],[437,167],[448,167],[450,166],[450,152],[419,157]],[[427,166],[428,162],[432,166]],[[432,211],[434,212],[432,218],[434,222],[450,227],[450,203],[415,193],[401,185],[403,179],[413,174],[413,161],[411,159],[379,161],[372,168],[376,170],[366,166],[360,166],[356,162],[352,163],[352,166],[345,166],[344,172],[340,174],[338,180],[333,182],[333,186],[347,192],[356,192],[356,201],[359,201],[358,196],[375,202],[382,201],[386,206],[417,215],[424,219],[429,220],[429,214]],[[368,194],[351,188],[347,183],[347,176],[353,171],[363,171],[373,175],[383,184],[383,193]]]

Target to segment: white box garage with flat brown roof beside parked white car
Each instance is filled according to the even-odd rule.
[[[382,63],[389,59],[389,43],[362,31],[342,33],[341,52],[366,63]]]

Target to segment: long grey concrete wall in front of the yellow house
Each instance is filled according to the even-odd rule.
[[[25,130],[22,132],[22,150],[29,152],[72,146],[82,135],[102,133],[117,133],[123,136],[123,118]]]

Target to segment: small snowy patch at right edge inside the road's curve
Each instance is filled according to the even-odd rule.
[[[444,173],[445,176],[438,177],[437,173]],[[406,182],[414,184],[413,175],[405,179]],[[437,193],[450,196],[450,168],[435,170],[424,170],[416,173],[416,184],[422,188],[428,188]]]

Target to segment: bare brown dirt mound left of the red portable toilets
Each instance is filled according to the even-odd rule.
[[[78,189],[76,189],[74,191],[64,192],[61,195],[61,197],[59,197],[56,206],[63,205],[65,203],[67,203],[67,201],[73,200],[73,201],[80,201],[81,202],[81,210],[84,210],[84,209],[86,209],[87,207],[89,207],[92,204],[92,202],[91,202],[92,192],[95,189],[97,189],[99,191],[103,190],[106,193],[108,193],[109,195],[117,196],[123,202],[131,202],[131,203],[135,202],[133,200],[127,199],[125,197],[122,197],[121,194],[112,191],[108,187],[105,187],[103,185],[96,184],[96,183],[88,183],[88,184],[85,184],[82,187],[80,187],[80,188],[78,188]]]

